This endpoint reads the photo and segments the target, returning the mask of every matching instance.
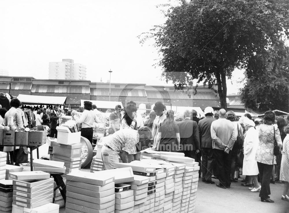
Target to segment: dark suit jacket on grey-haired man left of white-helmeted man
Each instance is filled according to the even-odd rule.
[[[192,144],[193,150],[200,149],[199,129],[196,121],[185,119],[179,123],[180,144]]]

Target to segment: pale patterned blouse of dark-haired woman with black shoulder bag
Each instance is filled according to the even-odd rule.
[[[275,139],[281,143],[280,131],[277,125],[261,124],[259,129],[259,146],[256,153],[256,161],[268,165],[275,164],[274,149],[274,129]]]

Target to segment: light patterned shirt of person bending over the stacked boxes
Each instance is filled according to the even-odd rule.
[[[109,146],[116,152],[126,151],[128,154],[137,154],[136,144],[138,144],[140,136],[137,130],[121,129],[112,135],[109,142],[105,145]]]

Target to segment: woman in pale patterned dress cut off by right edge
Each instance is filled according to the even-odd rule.
[[[289,125],[284,127],[284,133],[286,137],[283,141],[283,151],[281,168],[280,168],[280,180],[284,181],[284,190],[282,195],[282,200],[289,201]]]

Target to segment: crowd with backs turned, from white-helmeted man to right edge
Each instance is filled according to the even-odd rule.
[[[269,110],[263,119],[245,114],[237,120],[233,111],[216,112],[211,107],[204,113],[202,119],[193,113],[194,140],[201,144],[202,181],[214,184],[213,177],[219,181],[217,187],[229,189],[242,170],[246,176],[242,186],[259,192],[262,202],[274,202],[269,196],[270,182],[284,183],[281,199],[289,201],[289,116],[276,118]],[[280,154],[274,154],[274,146],[282,148]]]

